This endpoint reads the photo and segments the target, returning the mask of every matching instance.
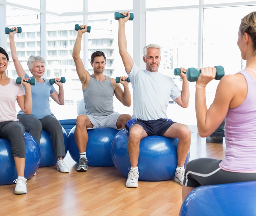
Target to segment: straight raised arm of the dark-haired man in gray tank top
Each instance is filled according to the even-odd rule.
[[[81,51],[82,36],[83,36],[83,33],[85,33],[87,31],[87,26],[81,25],[80,27],[82,29],[77,31],[77,39],[74,44],[72,57],[74,59],[75,65],[76,65],[78,77],[82,83],[82,89],[84,90],[85,88],[87,88],[88,83],[90,81],[90,74],[84,68],[84,63],[83,63],[82,59],[80,58],[80,51]]]

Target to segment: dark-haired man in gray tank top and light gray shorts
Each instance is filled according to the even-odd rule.
[[[82,36],[87,31],[87,26],[81,25],[80,27],[72,56],[78,77],[82,83],[86,115],[77,116],[74,138],[80,155],[77,171],[87,171],[87,130],[104,127],[114,129],[125,128],[125,124],[131,119],[131,115],[114,112],[113,97],[115,95],[122,104],[131,106],[131,94],[128,82],[123,81],[127,77],[120,77],[120,83],[124,87],[123,90],[120,84],[115,82],[115,79],[104,75],[106,57],[103,52],[96,51],[91,55],[92,75],[84,68],[83,61],[80,58],[80,51]]]

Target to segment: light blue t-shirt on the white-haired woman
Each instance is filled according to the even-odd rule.
[[[25,77],[29,77],[27,74]],[[32,79],[33,77],[29,77]],[[55,91],[53,85],[50,85],[49,80],[44,79],[44,83],[36,82],[36,85],[31,86],[32,92],[32,111],[31,115],[38,119],[42,119],[47,115],[51,115],[49,97],[52,92]],[[24,114],[22,110],[19,114]]]

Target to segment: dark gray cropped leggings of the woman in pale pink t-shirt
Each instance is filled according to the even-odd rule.
[[[11,143],[14,157],[26,157],[25,127],[20,121],[0,122],[0,137]]]

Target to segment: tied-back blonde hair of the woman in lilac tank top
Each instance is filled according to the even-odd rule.
[[[239,31],[241,35],[243,35],[243,33],[247,33],[251,37],[254,54],[256,54],[256,11],[251,12],[241,19]]]

